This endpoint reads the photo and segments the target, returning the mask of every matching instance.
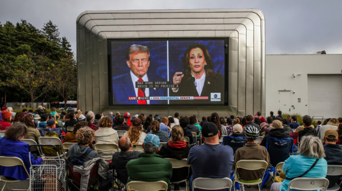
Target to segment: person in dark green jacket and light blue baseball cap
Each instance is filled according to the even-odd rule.
[[[144,153],[139,154],[138,159],[130,160],[126,165],[128,182],[163,180],[168,183],[168,191],[171,191],[172,164],[168,159],[156,154],[159,150],[159,143],[157,135],[148,134],[145,137]]]

